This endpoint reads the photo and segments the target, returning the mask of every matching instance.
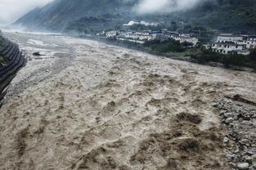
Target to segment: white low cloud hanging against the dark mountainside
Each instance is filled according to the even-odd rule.
[[[186,11],[204,0],[141,0],[133,8],[139,15]]]

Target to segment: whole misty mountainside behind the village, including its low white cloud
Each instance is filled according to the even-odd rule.
[[[256,28],[256,0],[56,0],[20,17],[15,25],[52,31],[118,28],[129,20],[157,21],[222,31]],[[98,26],[95,26],[98,25]]]

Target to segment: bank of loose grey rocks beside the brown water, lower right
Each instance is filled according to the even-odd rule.
[[[227,146],[229,165],[232,169],[255,170],[256,104],[240,96],[234,96],[232,99],[222,98],[214,106],[220,110],[222,122],[228,128],[223,142]]]

